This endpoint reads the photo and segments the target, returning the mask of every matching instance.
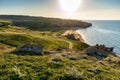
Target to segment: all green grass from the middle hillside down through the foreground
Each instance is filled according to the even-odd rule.
[[[57,53],[43,56],[17,55],[12,52],[25,43],[37,43],[45,51],[69,48],[78,54]],[[0,28],[0,80],[120,80],[120,59],[109,56],[99,62],[81,54],[89,45],[61,37],[59,32],[33,31],[16,26]],[[85,59],[84,56],[87,58]]]

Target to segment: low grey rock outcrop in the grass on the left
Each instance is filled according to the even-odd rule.
[[[41,55],[43,52],[43,46],[38,44],[24,44],[23,46],[18,47],[16,52],[31,52],[38,55]]]

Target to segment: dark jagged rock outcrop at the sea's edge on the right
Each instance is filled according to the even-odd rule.
[[[105,45],[95,45],[92,47],[89,47],[84,50],[85,53],[91,56],[100,56],[100,57],[107,57],[109,54],[112,54],[114,56],[115,53],[113,52],[114,47],[106,47]]]

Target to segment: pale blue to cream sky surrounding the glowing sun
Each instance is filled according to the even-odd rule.
[[[69,14],[61,9],[59,0],[0,0],[0,15],[120,20],[120,0],[81,0],[81,2],[79,8]]]

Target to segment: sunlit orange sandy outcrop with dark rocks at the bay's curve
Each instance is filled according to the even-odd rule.
[[[82,36],[76,32],[76,30],[67,30],[62,36],[66,36],[68,39],[84,42]]]

